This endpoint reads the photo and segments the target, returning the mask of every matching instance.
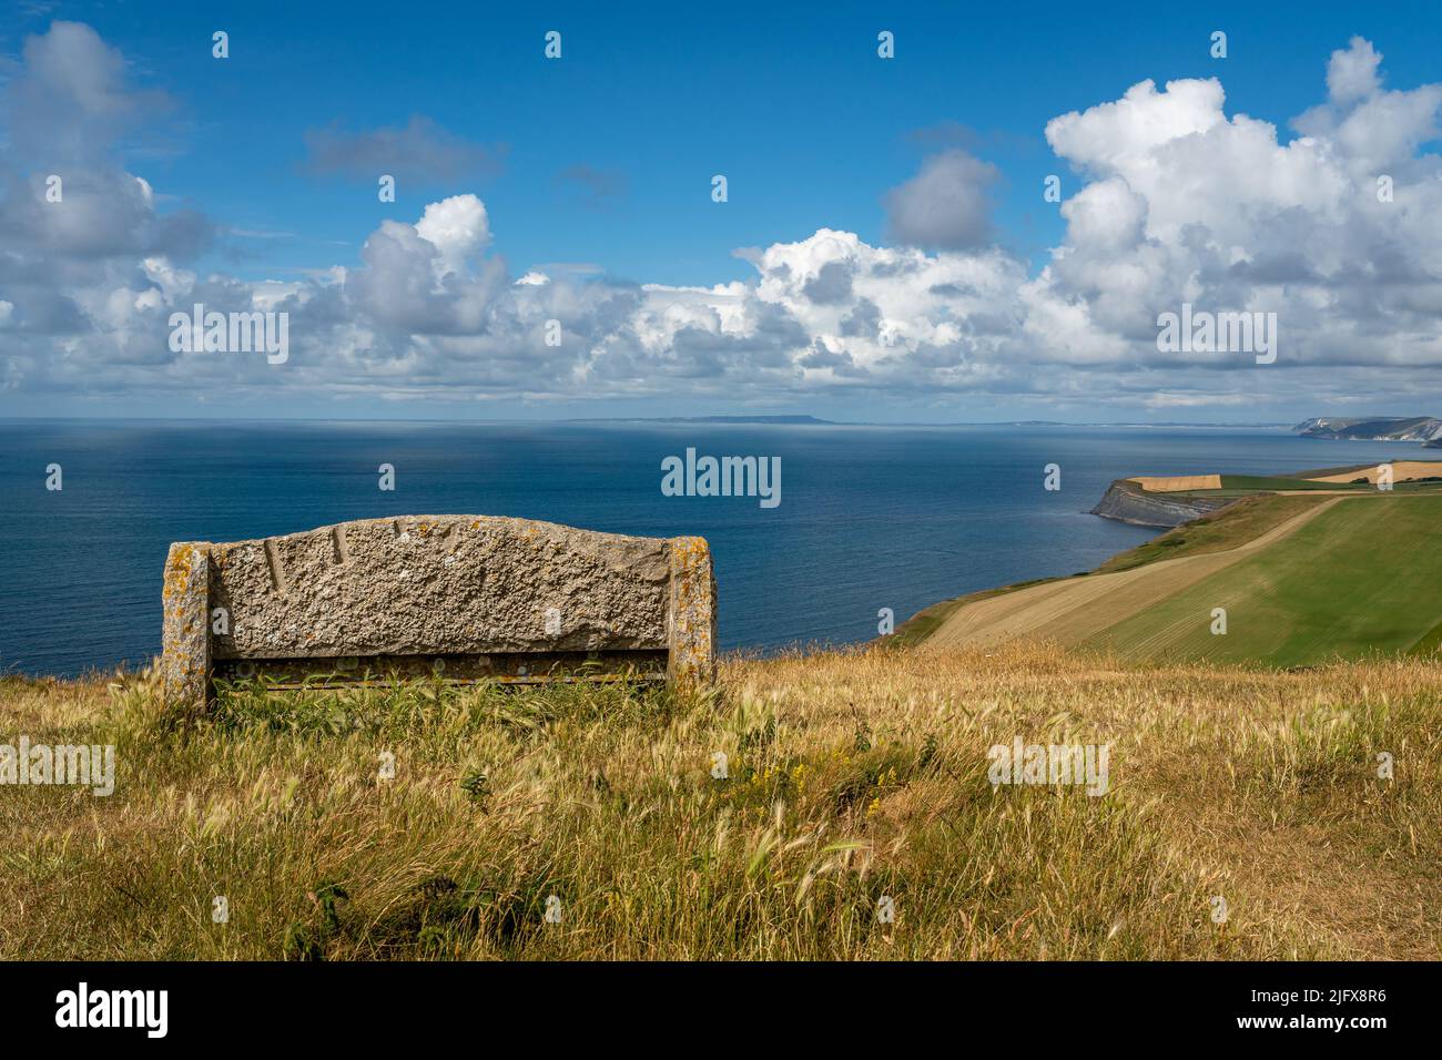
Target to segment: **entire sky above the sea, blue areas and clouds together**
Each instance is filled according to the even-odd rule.
[[[1442,415],[1428,4],[6,4],[0,415]]]

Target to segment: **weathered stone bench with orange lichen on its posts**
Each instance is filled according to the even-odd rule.
[[[162,673],[203,707],[212,681],[270,686],[428,676],[714,678],[704,538],[634,538],[487,515],[358,519],[303,534],[170,545]]]

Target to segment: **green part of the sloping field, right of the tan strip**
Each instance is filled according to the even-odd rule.
[[[1343,500],[1092,640],[1142,659],[1315,665],[1406,652],[1442,623],[1442,500]],[[1227,633],[1211,633],[1224,607]]]

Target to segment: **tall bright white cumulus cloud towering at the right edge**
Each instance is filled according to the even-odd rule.
[[[1442,87],[1384,91],[1379,59],[1360,37],[1334,53],[1330,101],[1288,143],[1229,118],[1214,79],[1146,81],[1048,123],[1090,182],[1022,290],[1032,340],[1066,361],[1184,368],[1148,339],[1158,313],[1190,301],[1278,313],[1293,369],[1438,363],[1442,170],[1416,150],[1436,134]]]

